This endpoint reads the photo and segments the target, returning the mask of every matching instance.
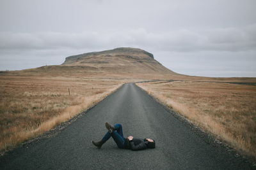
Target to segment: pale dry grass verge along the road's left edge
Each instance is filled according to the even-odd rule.
[[[58,127],[58,125],[62,125],[59,128],[63,129],[63,127],[66,125],[74,122],[79,117],[79,115],[81,115],[81,112],[90,110],[90,108],[93,108],[93,106],[97,105],[100,101],[118,90],[120,87],[122,87],[122,85],[123,83],[120,83],[111,89],[93,94],[92,96],[81,96],[79,97],[79,103],[68,106],[63,111],[61,111],[60,114],[42,122],[38,125],[38,127],[34,127],[33,129],[20,129],[9,136],[9,138],[3,138],[3,140],[0,142],[1,155],[4,155],[5,152],[12,150],[19,145],[33,141],[34,139],[38,138],[38,136],[44,136],[44,134],[47,136],[47,134],[49,134],[47,132],[49,132],[51,129],[54,129],[55,127]],[[65,122],[67,122],[67,124],[65,124]]]

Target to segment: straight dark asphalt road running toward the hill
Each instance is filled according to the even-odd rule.
[[[101,149],[92,140],[105,122],[123,125],[124,136],[156,140],[155,149]],[[252,169],[246,160],[198,136],[161,104],[128,83],[51,138],[35,140],[0,157],[0,169]]]

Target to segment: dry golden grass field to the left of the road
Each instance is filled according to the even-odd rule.
[[[90,74],[0,73],[1,153],[66,122],[122,83]]]

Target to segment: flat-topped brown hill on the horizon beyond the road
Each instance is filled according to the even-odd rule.
[[[42,66],[24,69],[21,72],[30,73],[90,73],[90,74],[142,74],[180,75],[164,67],[154,59],[152,53],[139,48],[115,48],[102,52],[90,52],[66,57],[61,65]]]

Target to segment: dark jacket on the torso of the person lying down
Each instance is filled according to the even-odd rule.
[[[125,138],[124,148],[130,150],[145,150],[147,149],[147,141],[141,138],[133,138],[129,141],[129,139]]]

